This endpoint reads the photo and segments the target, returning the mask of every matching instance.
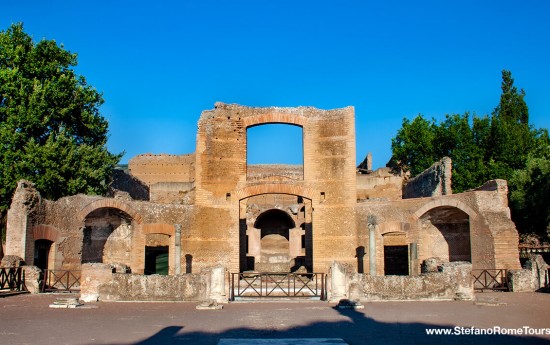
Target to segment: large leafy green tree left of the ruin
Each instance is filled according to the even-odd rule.
[[[121,155],[106,149],[101,94],[75,73],[77,55],[34,43],[22,24],[0,32],[0,210],[19,179],[43,196],[101,194]]]

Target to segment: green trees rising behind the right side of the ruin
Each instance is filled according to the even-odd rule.
[[[509,71],[502,71],[501,89],[500,102],[491,116],[454,114],[440,123],[422,115],[412,121],[404,119],[392,139],[391,162],[414,176],[448,156],[453,162],[452,184],[456,192],[478,187],[490,179],[509,180],[512,215],[520,230],[546,233],[550,194],[543,180],[545,176],[548,180],[548,176],[544,169],[535,167],[545,162],[550,143],[548,131],[529,124],[525,91],[514,86]],[[537,196],[546,190],[546,199],[525,194],[526,190],[535,189],[537,193],[533,195]]]

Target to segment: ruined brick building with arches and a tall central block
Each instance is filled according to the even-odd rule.
[[[247,129],[272,123],[301,127],[303,166],[247,164]],[[448,158],[408,183],[369,161],[356,167],[353,107],[216,103],[200,116],[196,152],[134,157],[110,197],[50,201],[21,181],[5,254],[42,269],[110,264],[168,276],[327,272],[333,262],[417,276],[433,257],[519,268],[506,181],[452,194]]]

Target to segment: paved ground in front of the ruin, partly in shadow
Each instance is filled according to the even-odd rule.
[[[427,328],[550,330],[550,294],[484,293],[477,302],[97,303],[49,308],[60,295],[0,298],[0,344],[217,344],[220,339],[341,338],[348,344],[550,344],[550,334],[427,335]],[[521,328],[523,330],[523,328]]]

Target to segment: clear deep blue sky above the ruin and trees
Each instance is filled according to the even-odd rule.
[[[5,0],[0,29],[23,22],[78,53],[122,163],[195,151],[201,111],[221,101],[354,106],[357,162],[370,151],[376,168],[404,117],[490,114],[502,69],[550,127],[549,15],[546,0]],[[257,140],[251,162],[299,151],[299,133],[264,126],[254,135],[279,141]]]

